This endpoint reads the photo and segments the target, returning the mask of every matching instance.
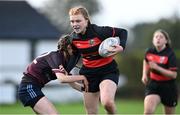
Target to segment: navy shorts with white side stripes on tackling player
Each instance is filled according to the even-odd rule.
[[[34,105],[44,97],[41,87],[32,83],[21,83],[18,88],[18,98],[24,106]]]

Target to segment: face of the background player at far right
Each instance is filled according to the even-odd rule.
[[[153,44],[156,48],[163,48],[166,46],[167,40],[161,32],[154,33]]]

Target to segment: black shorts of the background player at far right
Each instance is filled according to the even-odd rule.
[[[146,86],[145,96],[157,94],[161,98],[162,104],[169,107],[177,106],[178,91],[175,80],[154,81],[151,80]]]

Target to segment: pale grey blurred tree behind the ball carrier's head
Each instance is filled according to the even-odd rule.
[[[40,12],[45,14],[51,22],[61,31],[70,31],[69,26],[69,9],[73,6],[84,6],[93,16],[99,11],[97,0],[49,0]],[[92,8],[93,6],[93,8]]]

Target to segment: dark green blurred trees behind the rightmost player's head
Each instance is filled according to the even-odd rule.
[[[177,16],[169,19],[161,19],[156,23],[140,23],[133,27],[134,44],[133,48],[145,49],[152,44],[152,35],[156,29],[164,29],[169,33],[172,40],[172,47],[179,49],[180,45],[180,19]],[[141,44],[139,44],[141,43]]]

